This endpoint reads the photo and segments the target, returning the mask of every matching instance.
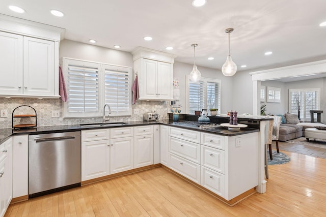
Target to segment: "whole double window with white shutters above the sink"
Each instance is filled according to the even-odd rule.
[[[131,115],[131,68],[63,58],[68,102],[64,117],[103,116],[104,104],[110,116]]]

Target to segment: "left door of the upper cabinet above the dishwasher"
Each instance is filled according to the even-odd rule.
[[[23,38],[0,32],[0,94],[22,94]]]

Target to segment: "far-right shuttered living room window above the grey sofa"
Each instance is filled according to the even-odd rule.
[[[289,89],[289,110],[291,114],[300,110],[300,119],[310,120],[310,110],[320,110],[320,88]]]

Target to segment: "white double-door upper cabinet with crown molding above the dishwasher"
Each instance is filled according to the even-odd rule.
[[[0,97],[59,98],[64,30],[0,15]]]

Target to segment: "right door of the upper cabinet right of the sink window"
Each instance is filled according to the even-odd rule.
[[[172,65],[157,62],[157,98],[172,99]]]

